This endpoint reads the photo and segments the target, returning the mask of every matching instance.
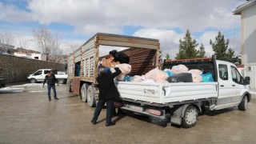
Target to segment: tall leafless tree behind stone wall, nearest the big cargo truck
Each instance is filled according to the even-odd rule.
[[[62,54],[60,50],[61,35],[52,34],[50,30],[45,27],[40,27],[38,30],[33,30],[34,40],[38,43],[38,47],[43,54],[55,55]]]

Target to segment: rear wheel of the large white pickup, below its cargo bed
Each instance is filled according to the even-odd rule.
[[[195,106],[190,105],[186,107],[184,117],[182,118],[182,127],[190,128],[195,126],[198,121],[198,110]]]

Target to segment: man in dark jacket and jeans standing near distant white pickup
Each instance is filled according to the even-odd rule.
[[[46,78],[43,81],[42,87],[45,86],[46,82],[47,82],[47,90],[48,90],[48,99],[49,99],[49,101],[51,100],[51,98],[50,98],[50,89],[53,89],[53,91],[54,91],[54,99],[58,100],[57,93],[56,93],[56,88],[55,88],[55,83],[57,83],[57,85],[58,85],[58,82],[57,82],[57,78],[54,75],[53,70],[51,70],[50,72],[48,72],[48,74],[46,74]]]

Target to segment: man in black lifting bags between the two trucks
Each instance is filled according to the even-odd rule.
[[[114,110],[114,98],[120,94],[118,89],[114,85],[114,77],[121,74],[121,70],[118,67],[114,68],[114,72],[110,71],[110,68],[106,67],[99,70],[100,75],[96,78],[99,87],[98,103],[94,111],[94,118],[91,122],[95,125],[98,119],[98,115],[101,113],[104,104],[106,103],[106,126],[114,126],[111,121]]]

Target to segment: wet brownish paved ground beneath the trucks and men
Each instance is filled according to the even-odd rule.
[[[116,126],[106,127],[106,110],[94,126],[94,108],[66,85],[57,90],[59,100],[48,102],[42,84],[0,89],[0,143],[256,143],[255,95],[246,111],[210,112],[183,129],[136,114],[114,117]]]

